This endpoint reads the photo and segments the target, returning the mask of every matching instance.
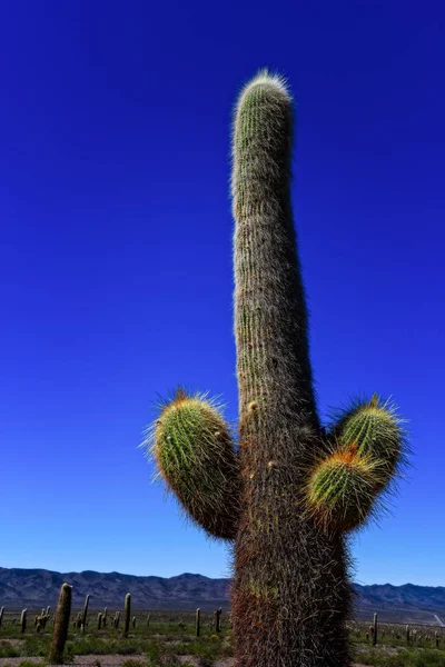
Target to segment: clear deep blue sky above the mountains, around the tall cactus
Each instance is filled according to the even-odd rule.
[[[231,109],[298,102],[295,217],[322,414],[392,394],[414,468],[356,579],[445,585],[443,2],[6,2],[0,566],[228,575],[137,448],[179,382],[237,416]]]

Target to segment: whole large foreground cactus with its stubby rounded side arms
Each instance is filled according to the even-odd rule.
[[[210,536],[231,540],[237,667],[345,667],[347,534],[397,474],[404,431],[376,395],[323,428],[290,205],[291,99],[260,72],[233,138],[236,448],[219,407],[182,389],[146,445],[158,475]]]

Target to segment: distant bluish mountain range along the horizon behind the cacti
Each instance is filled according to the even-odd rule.
[[[12,609],[51,605],[53,608],[63,581],[73,587],[73,607],[80,607],[89,594],[91,608],[121,608],[126,594],[131,593],[136,609],[229,609],[230,579],[210,579],[189,573],[165,578],[90,570],[61,574],[19,568],[0,568],[0,606]],[[442,586],[355,584],[355,615],[358,618],[370,618],[377,611],[380,620],[445,623],[445,588]]]

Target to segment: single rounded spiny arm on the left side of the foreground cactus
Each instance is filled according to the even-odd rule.
[[[231,539],[239,512],[237,452],[221,407],[178,388],[160,404],[147,442],[158,477],[210,536]]]

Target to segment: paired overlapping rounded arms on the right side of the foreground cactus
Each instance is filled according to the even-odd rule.
[[[395,406],[375,394],[340,411],[327,440],[328,455],[307,478],[307,509],[326,530],[360,528],[384,508],[382,494],[394,490],[406,462],[402,420]]]

